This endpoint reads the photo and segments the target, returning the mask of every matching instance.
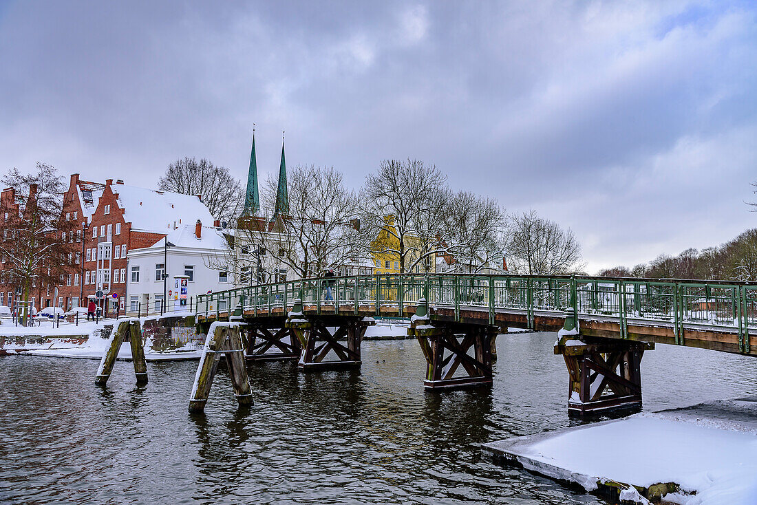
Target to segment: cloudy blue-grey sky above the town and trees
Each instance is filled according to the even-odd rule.
[[[755,2],[8,2],[0,172],[155,187],[385,159],[575,232],[586,270],[757,226]]]

